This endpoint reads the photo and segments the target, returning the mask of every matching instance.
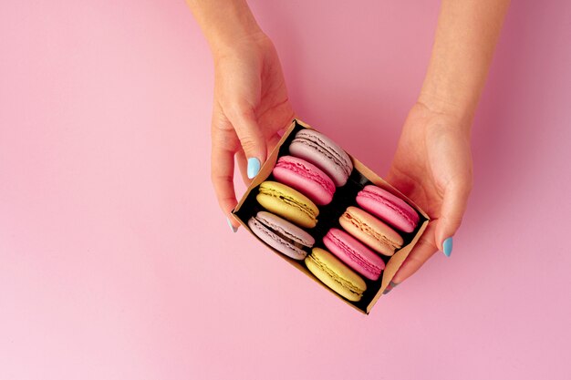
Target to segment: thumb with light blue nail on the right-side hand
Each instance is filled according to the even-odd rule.
[[[444,191],[441,214],[434,235],[438,248],[446,256],[452,253],[452,236],[462,224],[471,190],[471,181],[452,180]]]

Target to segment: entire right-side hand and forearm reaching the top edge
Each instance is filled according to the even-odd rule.
[[[510,0],[442,0],[419,102],[410,110],[389,181],[431,222],[387,291],[434,252],[452,253],[472,190],[470,128]]]

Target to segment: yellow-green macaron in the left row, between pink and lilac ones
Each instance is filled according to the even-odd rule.
[[[319,210],[314,202],[299,191],[273,180],[260,183],[258,191],[255,199],[265,210],[301,227],[316,226]]]

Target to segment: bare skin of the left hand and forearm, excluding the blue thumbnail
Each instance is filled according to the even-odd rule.
[[[276,134],[295,117],[282,67],[244,0],[187,0],[214,61],[211,179],[224,214],[238,203],[234,156],[244,182],[245,157],[264,162]],[[231,219],[230,219],[231,220]],[[238,228],[236,221],[231,221]]]

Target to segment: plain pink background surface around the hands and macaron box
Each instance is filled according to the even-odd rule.
[[[385,173],[438,2],[251,3],[301,118]],[[514,1],[452,258],[364,316],[229,231],[182,1],[1,2],[0,379],[568,378],[570,40]]]

